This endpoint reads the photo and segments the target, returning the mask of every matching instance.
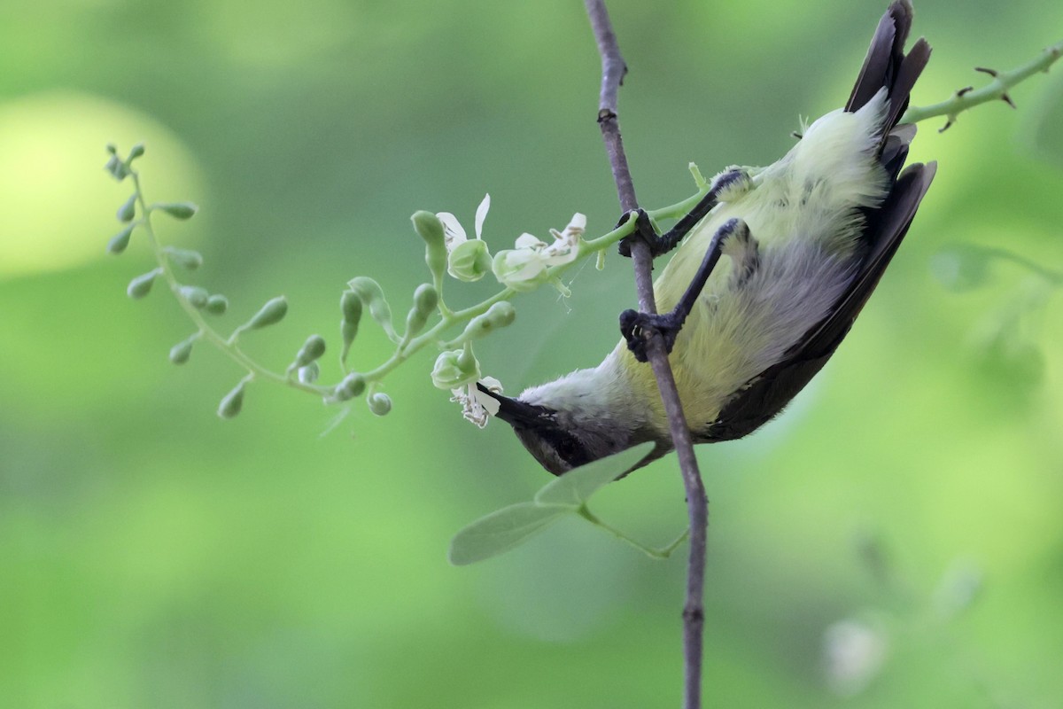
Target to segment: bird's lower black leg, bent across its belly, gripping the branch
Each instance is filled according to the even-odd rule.
[[[664,338],[664,348],[671,354],[672,347],[675,344],[675,338],[679,335],[679,331],[682,330],[682,323],[687,320],[687,316],[690,315],[694,303],[697,302],[698,297],[702,294],[702,289],[705,288],[706,282],[712,275],[712,269],[715,268],[716,263],[720,260],[720,256],[724,252],[724,241],[728,237],[731,239],[728,242],[729,244],[752,244],[749,248],[743,248],[746,252],[749,252],[752,248],[753,255],[750,258],[756,258],[757,247],[749,235],[749,227],[741,219],[728,219],[712,236],[712,241],[705,252],[705,258],[697,268],[694,278],[690,282],[686,292],[684,292],[679,302],[675,304],[675,307],[670,313],[654,315],[637,310],[624,310],[620,314],[620,334],[627,340],[627,349],[631,351],[636,359],[646,361],[646,341],[649,339],[649,334],[653,331],[657,331]],[[735,250],[728,249],[729,253],[731,251]],[[735,251],[735,253],[739,252]],[[742,263],[738,264],[740,278],[743,277],[742,272],[755,268],[755,260],[746,264],[745,261],[749,259],[744,256],[741,260]]]

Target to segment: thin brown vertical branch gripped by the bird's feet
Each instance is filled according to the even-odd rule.
[[[605,0],[585,0],[587,15],[591,20],[594,38],[597,41],[598,53],[602,55],[602,90],[598,104],[598,125],[605,140],[606,153],[612,168],[620,206],[624,212],[638,208],[635,197],[635,185],[627,167],[624,154],[624,144],[620,135],[620,121],[617,117],[618,96],[620,85],[627,72],[627,66],[620,53],[617,36],[609,21]],[[632,235],[631,261],[635,265],[635,284],[639,296],[639,308],[644,313],[656,313],[653,286],[653,256],[649,246]],[[682,484],[687,492],[687,508],[690,517],[690,558],[687,567],[687,601],[682,609],[684,622],[684,661],[685,661],[685,709],[699,709],[702,706],[702,645],[705,612],[703,597],[705,595],[705,555],[706,533],[709,509],[705,496],[705,486],[697,470],[697,459],[694,457],[694,445],[690,438],[687,418],[679,403],[672,366],[669,364],[668,352],[660,334],[649,332],[646,345],[649,365],[657,377],[664,411],[668,413],[669,429],[672,442],[679,457],[679,469],[682,471]]]

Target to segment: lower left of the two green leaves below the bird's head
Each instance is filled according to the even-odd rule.
[[[522,502],[480,518],[451,540],[448,558],[456,567],[483,561],[523,544],[547,525],[572,513],[561,505]]]

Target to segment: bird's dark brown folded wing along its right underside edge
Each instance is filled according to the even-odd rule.
[[[737,391],[716,420],[696,432],[697,442],[733,440],[753,433],[781,411],[827,364],[905,238],[937,167],[937,163],[915,164],[900,173],[882,206],[868,215],[865,234],[871,251],[830,315],[806,333],[779,362]]]

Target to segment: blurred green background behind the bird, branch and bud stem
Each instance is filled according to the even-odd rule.
[[[689,161],[779,156],[799,114],[847,97],[885,4],[610,2],[643,204],[689,196]],[[919,104],[1063,38],[1050,0],[917,5]],[[288,297],[246,338],[283,368],[307,334],[336,340],[355,275],[405,310],[416,209],[471,224],[490,191],[492,249],[577,210],[603,233],[583,3],[5,0],[0,66],[0,706],[679,705],[685,547],[654,562],[572,521],[449,565],[459,527],[547,478],[505,426],[461,421],[431,354],[388,381],[384,419],[357,406],[322,436],[334,410],[255,386],[221,421],[240,372],[206,347],[172,367],[189,323],[162,290],[124,294],[146,244],[104,254],[129,186],[103,146],[145,140],[148,198],[202,208],[162,235],[204,253],[227,320]],[[1017,112],[922,126],[938,179],[853,335],[781,419],[699,451],[707,706],[1063,706],[1063,303],[1006,263],[962,292],[931,272],[955,243],[1063,269],[1061,69]],[[612,347],[629,265],[571,286],[478,348],[507,391]],[[370,367],[384,340],[362,330]],[[674,457],[594,507],[663,543]]]

